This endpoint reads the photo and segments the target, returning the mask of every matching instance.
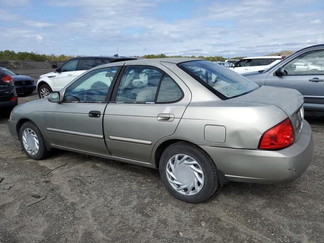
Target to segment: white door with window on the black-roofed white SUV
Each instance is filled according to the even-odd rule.
[[[78,64],[77,59],[72,59],[61,67],[61,72],[56,72],[49,78],[53,80],[53,91],[60,91],[74,79],[74,72]]]

